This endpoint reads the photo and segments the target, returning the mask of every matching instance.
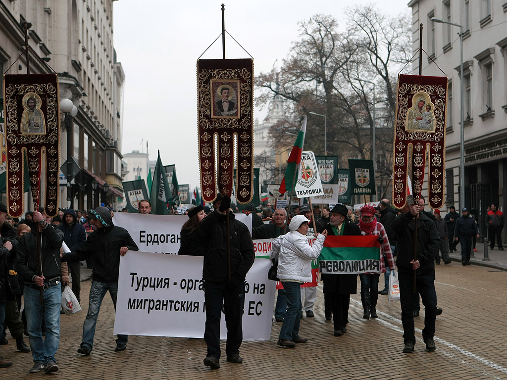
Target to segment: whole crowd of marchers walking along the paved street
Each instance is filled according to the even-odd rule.
[[[226,357],[242,363],[241,320],[244,308],[245,277],[255,257],[252,239],[273,239],[270,257],[277,264],[282,288],[277,292],[275,322],[281,322],[276,344],[295,348],[308,338],[299,335],[303,316],[314,317],[316,287],[302,287],[311,281],[311,261],[316,260],[327,236],[377,236],[380,245],[380,273],[359,275],[363,318],[378,318],[378,295],[388,292],[389,276],[397,270],[400,283],[401,315],[404,330],[404,353],[414,352],[416,343],[414,317],[419,316],[420,299],[425,307],[422,337],[426,350],[436,349],[433,336],[437,307],[434,288],[434,265],[450,264],[449,252],[461,248],[461,263],[469,265],[480,235],[475,210],[461,214],[454,207],[444,218],[440,210],[424,210],[424,198],[417,204],[408,197],[405,207],[394,209],[383,199],[378,207],[360,209],[336,204],[333,208],[308,204],[295,205],[287,217],[284,208],[267,203],[258,209],[249,204],[244,213],[252,215],[251,234],[235,218],[239,212],[229,197],[216,198],[212,207],[196,206],[185,212],[188,217],[180,233],[178,254],[204,256],[203,280],[206,301],[204,341],[207,353],[204,365],[220,367],[220,319],[225,313],[227,325]],[[122,212],[127,211],[123,209]],[[142,200],[138,212],[151,214],[151,204]],[[176,210],[173,210],[175,213]],[[58,371],[56,352],[59,344],[62,292],[71,289],[81,300],[81,266],[93,269],[89,308],[83,324],[83,338],[78,353],[90,355],[102,299],[109,292],[116,308],[120,257],[137,250],[129,233],[113,223],[108,205],[89,212],[61,210],[49,218],[44,209],[27,212],[17,220],[0,203],[0,346],[9,344],[7,329],[16,340],[18,351],[33,357],[31,373]],[[416,223],[417,219],[417,223]],[[495,242],[503,250],[501,231],[504,218],[498,206],[488,207],[487,223],[491,249]],[[414,232],[417,226],[417,240]],[[315,238],[310,246],[308,238]],[[37,241],[39,239],[39,242]],[[39,244],[38,244],[39,243]],[[65,243],[68,249],[62,249]],[[41,268],[38,246],[40,245]],[[70,274],[70,276],[69,276]],[[384,284],[379,290],[383,276]],[[414,286],[415,281],[415,292]],[[71,280],[71,281],[70,281]],[[333,335],[347,332],[350,295],[357,293],[357,275],[322,274],[324,314],[333,320]],[[42,298],[42,302],[41,302]],[[23,335],[28,336],[29,345]],[[128,336],[118,335],[115,351],[127,348]],[[0,352],[1,353],[1,352]],[[0,356],[0,368],[13,362]]]

